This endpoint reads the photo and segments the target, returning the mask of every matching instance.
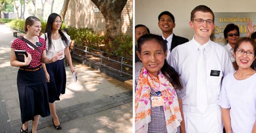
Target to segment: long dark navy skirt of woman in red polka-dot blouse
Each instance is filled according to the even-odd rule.
[[[18,70],[17,87],[22,123],[34,121],[36,115],[50,115],[46,78],[42,68],[35,72]]]

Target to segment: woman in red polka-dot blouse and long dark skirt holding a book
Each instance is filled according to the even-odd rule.
[[[53,58],[46,57],[45,40],[39,37],[41,31],[41,21],[30,16],[25,21],[25,32],[23,37],[17,38],[11,45],[10,63],[19,67],[17,75],[17,87],[22,117],[22,127],[20,132],[28,132],[28,121],[32,120],[31,132],[37,132],[39,115],[47,117],[50,115],[47,84],[45,73],[41,62],[51,63],[62,56],[62,52],[57,53]],[[31,43],[26,43],[30,41]],[[14,51],[25,50],[28,56],[24,55],[24,62],[17,60]]]

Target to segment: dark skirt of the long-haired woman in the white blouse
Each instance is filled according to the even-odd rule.
[[[66,90],[66,70],[62,60],[46,64],[46,69],[50,75],[50,82],[47,82],[49,102],[60,100],[60,94],[65,94]]]

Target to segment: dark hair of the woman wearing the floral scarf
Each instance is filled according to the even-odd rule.
[[[162,36],[155,35],[155,34],[145,34],[138,39],[138,52],[141,52],[142,45],[144,45],[146,41],[150,41],[150,40],[155,40],[156,42],[158,42],[163,48],[164,52],[167,50],[166,42],[164,42]],[[167,63],[166,59],[164,60],[164,64],[163,64],[163,67],[161,68],[161,72],[165,76],[165,78],[167,78],[168,81],[173,84],[175,89],[182,89],[182,85],[179,79],[179,74],[174,70],[172,66],[170,66]]]

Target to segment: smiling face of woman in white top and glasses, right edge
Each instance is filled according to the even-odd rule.
[[[239,66],[239,69],[250,68],[250,65],[252,64],[253,60],[255,59],[255,55],[253,54],[252,56],[248,56],[246,53],[241,54],[241,53],[239,53],[239,50],[244,50],[247,53],[249,51],[255,53],[255,51],[253,50],[252,44],[249,41],[241,42],[240,46],[238,47],[238,49],[235,53],[235,57],[236,57],[236,61]]]

